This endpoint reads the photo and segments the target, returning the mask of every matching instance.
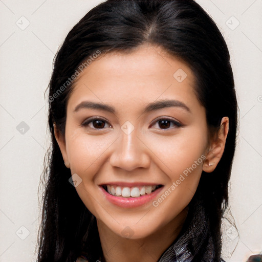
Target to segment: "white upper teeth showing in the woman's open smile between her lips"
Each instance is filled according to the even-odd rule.
[[[117,185],[103,185],[102,188],[109,194],[121,198],[139,198],[142,195],[150,194],[163,185],[147,185],[134,187],[121,187]]]

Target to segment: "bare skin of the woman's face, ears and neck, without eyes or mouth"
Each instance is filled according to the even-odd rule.
[[[173,77],[178,69],[187,74],[182,82]],[[229,120],[224,117],[217,139],[208,141],[205,108],[195,96],[193,73],[183,61],[150,45],[129,54],[101,55],[81,73],[73,89],[65,136],[56,126],[55,135],[65,165],[82,179],[76,190],[97,218],[106,261],[157,261],[181,230],[202,170],[212,172],[219,163]],[[190,113],[172,106],[142,114],[148,103],[162,99],[179,100]],[[85,100],[114,106],[116,112],[91,108],[74,112]],[[102,118],[103,129],[95,129],[94,122],[83,126],[90,117]],[[158,121],[166,118],[182,126],[168,122],[165,129]],[[128,135],[121,129],[126,121],[132,124],[128,130],[135,128]],[[118,207],[99,188],[116,181],[164,185],[157,200],[201,156],[205,156],[201,164],[157,207],[152,201],[137,208]]]

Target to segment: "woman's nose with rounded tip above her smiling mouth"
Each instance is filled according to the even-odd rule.
[[[137,136],[136,129],[130,134],[120,132],[120,137],[114,143],[110,164],[127,171],[138,167],[148,168],[150,166],[150,149],[143,139]]]

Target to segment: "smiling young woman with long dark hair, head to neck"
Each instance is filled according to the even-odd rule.
[[[108,0],[49,84],[38,261],[224,261],[237,101],[226,42],[192,0]]]

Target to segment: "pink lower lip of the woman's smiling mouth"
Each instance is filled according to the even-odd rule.
[[[103,194],[105,195],[105,198],[112,204],[123,208],[135,208],[145,205],[152,199],[154,199],[156,195],[162,190],[163,186],[156,189],[154,192],[150,194],[141,195],[141,197],[138,198],[117,197],[108,193],[103,187],[100,186],[99,188],[102,190]]]

